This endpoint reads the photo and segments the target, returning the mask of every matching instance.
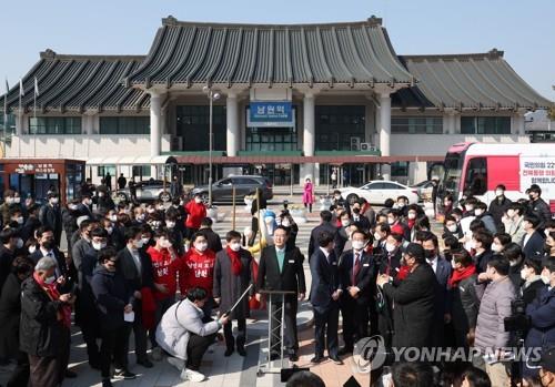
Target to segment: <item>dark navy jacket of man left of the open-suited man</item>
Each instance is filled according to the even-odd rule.
[[[122,275],[99,266],[94,269],[91,287],[102,329],[114,330],[123,326],[123,308],[131,303],[132,295]]]

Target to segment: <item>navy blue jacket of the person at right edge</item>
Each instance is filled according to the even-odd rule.
[[[526,336],[526,348],[547,347],[555,344],[555,288],[547,286],[538,292],[536,299],[526,307],[531,328]]]

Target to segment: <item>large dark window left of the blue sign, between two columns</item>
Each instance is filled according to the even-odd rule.
[[[176,132],[183,138],[182,151],[209,151],[210,108],[176,106]],[[213,106],[212,139],[213,151],[225,151],[225,106]]]

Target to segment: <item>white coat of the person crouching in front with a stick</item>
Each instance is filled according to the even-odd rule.
[[[189,299],[175,303],[164,313],[157,327],[157,343],[170,355],[186,360],[191,334],[209,336],[220,329],[218,322],[204,324],[204,313]]]

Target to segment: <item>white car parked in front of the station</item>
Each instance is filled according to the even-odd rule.
[[[369,203],[384,204],[387,198],[396,201],[397,196],[403,195],[408,197],[408,204],[418,203],[418,191],[397,182],[375,180],[359,189],[350,186],[340,191],[341,196],[349,203],[364,197]]]

